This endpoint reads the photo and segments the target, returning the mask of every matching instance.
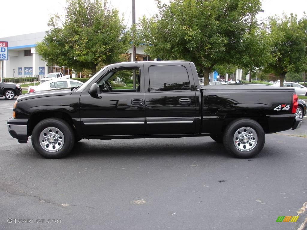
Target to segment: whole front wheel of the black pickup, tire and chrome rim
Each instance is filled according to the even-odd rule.
[[[62,119],[47,118],[32,131],[33,148],[45,158],[61,158],[72,150],[75,136],[72,127]]]

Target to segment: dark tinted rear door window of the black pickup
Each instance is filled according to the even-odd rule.
[[[183,66],[149,67],[150,91],[190,90],[188,72]]]

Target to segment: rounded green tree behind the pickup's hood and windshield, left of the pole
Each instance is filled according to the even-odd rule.
[[[55,15],[49,20],[49,31],[36,50],[43,60],[76,71],[90,69],[92,75],[99,63],[119,61],[129,49],[131,36],[117,9],[102,6],[99,0],[67,0],[65,19]]]

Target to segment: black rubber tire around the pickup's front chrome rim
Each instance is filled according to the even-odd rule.
[[[58,129],[64,138],[64,144],[62,146],[56,144],[50,144],[56,146],[55,148],[59,148],[57,151],[47,151],[45,148],[41,146],[40,135],[43,135],[43,131],[46,128],[55,128]],[[49,129],[50,130],[50,129]],[[45,134],[45,133],[44,133]],[[50,133],[48,133],[51,135]],[[47,134],[46,134],[47,135]],[[62,135],[61,135],[62,136]],[[60,137],[62,139],[62,137]],[[47,138],[43,138],[46,139]],[[53,139],[52,139],[53,140]],[[60,139],[59,139],[60,140]],[[72,130],[72,127],[68,125],[68,123],[59,118],[47,118],[45,120],[40,121],[32,131],[32,146],[41,156],[45,158],[61,158],[69,154],[75,144],[75,136]],[[59,141],[60,142],[60,141]],[[60,144],[59,144],[60,145]],[[47,145],[46,145],[47,146]]]

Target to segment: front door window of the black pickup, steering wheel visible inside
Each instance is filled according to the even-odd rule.
[[[133,79],[135,78],[135,85]],[[98,82],[99,93],[140,92],[140,70],[138,67],[122,67],[109,71]]]

